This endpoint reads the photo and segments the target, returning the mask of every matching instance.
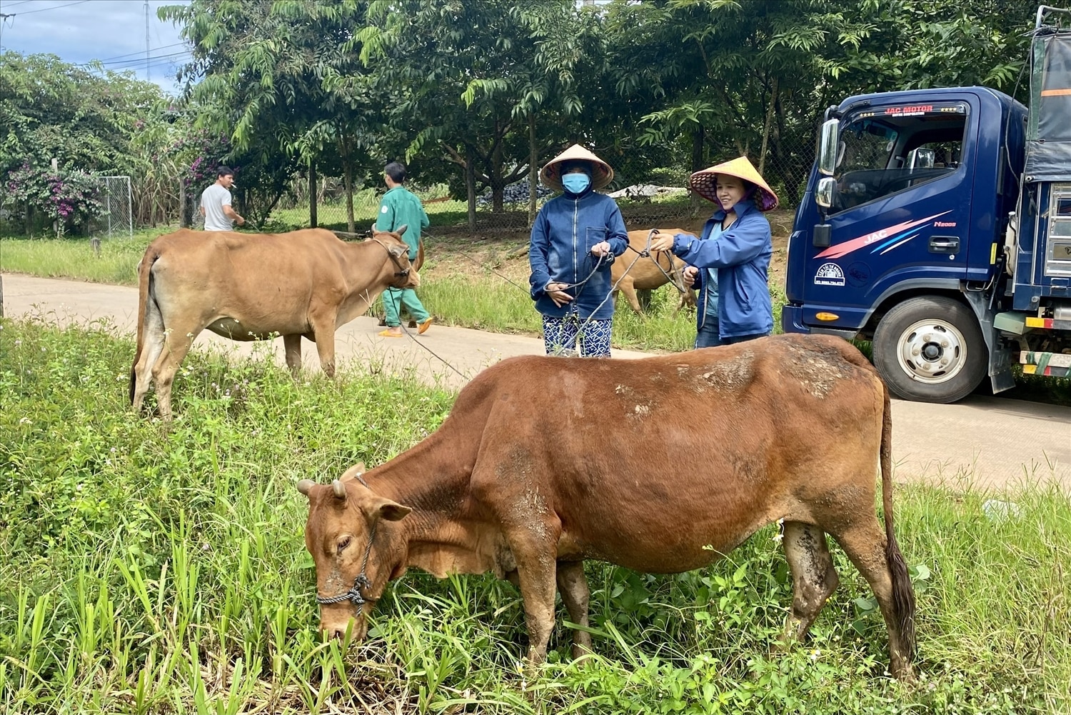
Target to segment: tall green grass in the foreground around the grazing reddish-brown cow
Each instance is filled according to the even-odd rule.
[[[790,604],[772,528],[679,576],[589,564],[597,657],[569,661],[559,625],[533,677],[519,596],[491,577],[412,572],[366,644],[321,643],[295,483],[381,463],[454,396],[194,354],[165,429],[126,405],[132,355],[106,326],[0,321],[0,712],[1071,712],[1071,504],[1029,486],[897,488],[912,687],[836,548],[811,639],[771,654]]]

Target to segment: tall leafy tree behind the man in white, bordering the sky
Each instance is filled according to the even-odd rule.
[[[182,26],[194,57],[182,71],[201,107],[198,125],[226,134],[242,164],[238,194],[263,220],[304,166],[340,162],[349,229],[353,177],[371,166],[378,108],[347,48],[365,5],[352,1],[194,0],[160,16]]]

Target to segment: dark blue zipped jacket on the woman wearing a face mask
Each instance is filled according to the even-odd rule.
[[[599,257],[591,255],[591,247],[602,241],[609,242],[612,255],[599,263]],[[528,248],[532,269],[528,282],[536,309],[543,315],[562,317],[571,306],[576,306],[582,318],[613,317],[614,300],[606,299],[612,286],[609,267],[614,256],[624,253],[628,245],[621,210],[609,196],[589,188],[578,195],[565,192],[548,200],[536,217]],[[546,295],[547,284],[580,283],[597,264],[599,269],[583,286],[565,291],[573,296],[571,303],[555,306]]]

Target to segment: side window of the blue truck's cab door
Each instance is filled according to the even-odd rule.
[[[966,119],[961,103],[869,108],[850,116],[841,130],[833,212],[953,174]]]

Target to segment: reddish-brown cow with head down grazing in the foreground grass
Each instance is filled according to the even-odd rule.
[[[874,590],[890,670],[910,679],[915,595],[893,533],[891,436],[877,372],[829,336],[642,360],[502,360],[408,451],[331,485],[298,483],[320,626],[362,639],[387,582],[410,566],[440,578],[493,571],[519,584],[539,662],[556,584],[570,619],[588,623],[584,560],[703,568],[784,519],[784,639],[802,638],[836,589],[828,533]],[[574,655],[590,645],[574,631]]]

